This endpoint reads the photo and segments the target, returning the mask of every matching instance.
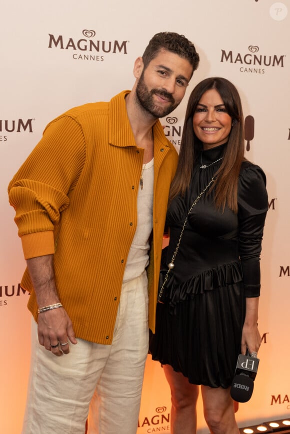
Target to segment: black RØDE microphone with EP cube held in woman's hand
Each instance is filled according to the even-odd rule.
[[[258,364],[259,359],[251,357],[248,351],[238,356],[230,387],[230,396],[234,401],[246,403],[251,398]]]

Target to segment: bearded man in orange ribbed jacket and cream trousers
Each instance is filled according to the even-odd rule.
[[[184,36],[157,33],[131,92],[50,122],[9,184],[35,320],[24,434],[83,434],[88,409],[89,434],[136,432],[177,164],[157,119],[198,61]]]

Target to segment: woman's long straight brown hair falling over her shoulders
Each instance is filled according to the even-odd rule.
[[[202,80],[189,96],[177,170],[169,192],[169,203],[178,194],[183,196],[188,189],[195,159],[202,150],[202,143],[193,131],[192,117],[201,96],[209,89],[217,90],[232,119],[223,159],[215,174],[214,201],[218,209],[223,211],[227,205],[234,213],[237,213],[237,182],[240,165],[244,159],[243,114],[237,89],[230,81],[220,77]]]

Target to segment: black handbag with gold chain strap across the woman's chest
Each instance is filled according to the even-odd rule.
[[[166,260],[166,254],[167,254],[167,247],[165,247],[164,249],[162,249],[162,254],[161,254],[161,266],[160,266],[160,273],[159,273],[159,282],[158,282],[158,293],[157,293],[157,303],[164,303],[165,300],[165,293],[164,290],[166,288],[169,288],[170,285],[172,285],[173,280],[174,280],[174,276],[172,275],[172,273],[170,273],[170,271],[174,268],[174,260],[176,257],[176,254],[178,252],[179,249],[179,244],[181,241],[181,237],[185,228],[185,225],[187,223],[188,220],[188,216],[192,210],[192,208],[197,204],[198,200],[200,199],[200,197],[203,195],[203,193],[207,190],[207,188],[214,182],[214,177],[211,178],[211,180],[208,182],[208,184],[206,185],[206,187],[198,194],[198,196],[196,197],[196,199],[194,200],[194,202],[192,203],[192,205],[189,208],[189,211],[187,213],[187,216],[184,220],[182,229],[181,229],[181,233],[180,233],[180,237],[179,240],[176,244],[176,248],[174,250],[171,262],[168,264],[168,268],[164,268],[164,262]]]

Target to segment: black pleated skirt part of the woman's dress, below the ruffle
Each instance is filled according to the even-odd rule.
[[[223,286],[219,280],[208,290],[187,288],[181,297],[175,288],[163,304],[157,303],[149,352],[153,360],[170,365],[191,384],[231,385],[240,354],[245,298],[241,279],[229,280]]]

